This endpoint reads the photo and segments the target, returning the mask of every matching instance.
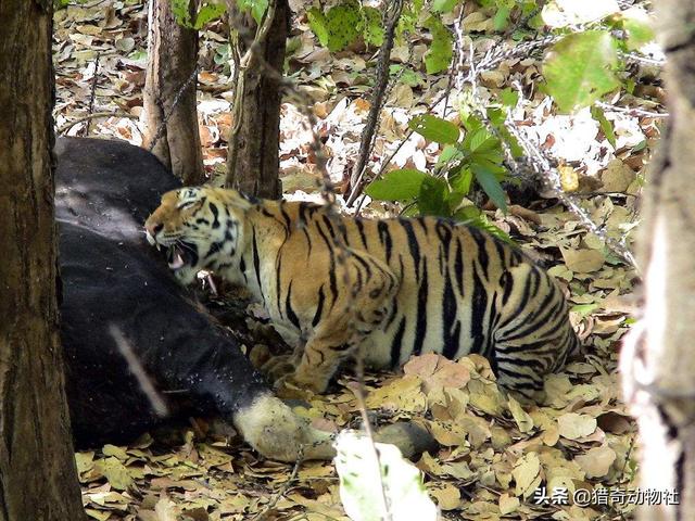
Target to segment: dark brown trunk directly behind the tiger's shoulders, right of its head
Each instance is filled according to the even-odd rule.
[[[236,119],[229,136],[226,185],[252,195],[278,199],[282,193],[278,177],[282,99],[278,77],[285,64],[289,7],[287,0],[275,1],[269,30],[254,42],[254,20],[239,12],[236,0],[227,0],[227,5],[231,31],[239,35],[239,53],[248,53],[248,60],[242,60],[235,85]]]

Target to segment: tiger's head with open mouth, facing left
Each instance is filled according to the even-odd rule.
[[[235,190],[181,188],[165,193],[148,217],[150,244],[167,250],[169,268],[184,284],[201,269],[238,265],[244,213],[252,203]]]

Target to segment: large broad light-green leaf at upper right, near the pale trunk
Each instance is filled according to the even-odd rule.
[[[591,105],[620,86],[614,73],[616,42],[606,30],[566,36],[552,49],[543,66],[547,90],[561,112]]]

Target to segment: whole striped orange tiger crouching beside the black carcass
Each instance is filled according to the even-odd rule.
[[[324,393],[343,361],[486,357],[534,399],[580,348],[567,301],[518,246],[433,216],[368,219],[231,189],[165,193],[144,224],[182,284],[201,270],[245,287],[296,347],[264,366],[276,389]]]

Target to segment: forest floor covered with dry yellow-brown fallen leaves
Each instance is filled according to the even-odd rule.
[[[488,13],[469,8],[467,30],[484,49],[504,37],[492,31]],[[485,25],[488,24],[488,25]],[[97,136],[141,143],[142,87],[147,46],[147,8],[141,1],[101,0],[68,5],[55,13],[55,123],[60,135]],[[228,46],[222,23],[201,31],[199,115],[204,163],[208,174],[224,171],[226,137],[231,125],[232,90]],[[407,122],[427,112],[441,96],[448,76],[427,75],[421,67],[427,35],[396,46],[394,64],[407,68],[391,90],[372,160],[380,164],[400,147],[392,164],[431,169],[439,145],[414,134]],[[369,109],[375,50],[354,47],[331,54],[317,43],[305,20],[294,23],[289,68],[311,97],[317,131],[329,155],[328,168],[340,183],[357,156]],[[413,66],[413,64],[417,64]],[[636,195],[644,167],[658,139],[659,118],[648,112],[608,105],[616,145],[611,145],[589,109],[558,115],[533,87],[540,56],[503,60],[483,73],[479,88],[493,92],[519,81],[528,103],[515,114],[538,136],[541,148],[559,160],[577,200],[608,237],[628,238],[637,224]],[[635,67],[635,81],[642,74]],[[658,73],[657,73],[658,74]],[[624,92],[617,105],[662,110],[658,86],[643,82],[640,97]],[[92,98],[93,92],[93,98]],[[649,99],[657,101],[648,101]],[[91,105],[91,107],[90,107]],[[442,113],[442,104],[435,107]],[[100,118],[83,116],[108,113]],[[89,126],[87,126],[89,122]],[[282,106],[280,160],[288,196],[317,198],[320,177],[312,154],[312,131],[292,104]],[[371,215],[389,208],[371,203]],[[636,503],[635,425],[621,401],[617,374],[620,339],[634,307],[634,269],[584,223],[554,200],[534,201],[527,212],[489,218],[557,277],[571,303],[571,319],[585,343],[585,357],[570,364],[546,384],[548,398],[521,407],[492,383],[480,357],[453,363],[426,355],[413,359],[405,374],[368,374],[367,405],[379,421],[413,419],[426,425],[441,448],[416,461],[426,487],[445,519],[626,519]],[[324,428],[353,425],[358,406],[346,383],[340,391],[315,397],[312,408],[298,409]],[[155,436],[156,437],[156,436]],[[83,497],[93,519],[174,520],[346,520],[331,462],[293,466],[265,460],[240,444],[201,434],[200,424],[180,433],[180,443],[144,436],[130,446],[106,445],[76,455]],[[546,491],[545,500],[536,501]],[[566,501],[563,491],[589,491],[587,503]],[[593,496],[592,496],[593,494]],[[605,498],[602,500],[601,498]]]

